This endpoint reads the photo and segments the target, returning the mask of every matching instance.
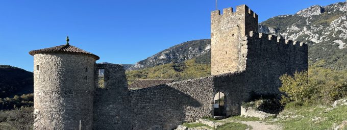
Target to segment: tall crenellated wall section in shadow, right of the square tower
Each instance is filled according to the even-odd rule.
[[[255,94],[278,93],[279,77],[308,69],[307,44],[251,32],[247,36],[246,81]]]

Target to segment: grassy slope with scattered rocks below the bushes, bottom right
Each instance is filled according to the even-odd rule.
[[[280,113],[280,116],[284,118],[273,118],[269,121],[283,124],[284,129],[332,129],[334,123],[338,125],[343,120],[347,120],[347,106],[338,106],[331,111],[326,111],[328,108],[332,107],[303,106],[286,108]]]

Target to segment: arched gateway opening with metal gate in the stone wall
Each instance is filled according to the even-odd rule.
[[[213,116],[226,116],[226,97],[222,92],[218,92],[214,95],[214,104],[213,104]]]

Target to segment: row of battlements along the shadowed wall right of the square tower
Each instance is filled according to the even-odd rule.
[[[259,38],[260,41],[266,40],[268,42],[266,43],[274,43],[282,46],[287,46],[288,48],[300,48],[303,50],[307,50],[307,44],[300,42],[300,41],[292,41],[292,40],[286,40],[285,38],[277,37],[275,35],[268,35],[264,33],[257,33],[257,32],[250,32],[250,37],[252,38]],[[260,44],[260,43],[259,43]]]

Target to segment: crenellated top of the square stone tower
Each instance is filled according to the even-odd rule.
[[[258,15],[254,13],[253,10],[249,9],[246,5],[240,5],[236,7],[236,12],[233,11],[233,8],[223,9],[223,14],[220,13],[220,10],[215,10],[211,12],[211,16],[221,16],[221,15],[240,15],[247,14],[246,16],[252,16],[253,18],[258,19]]]

